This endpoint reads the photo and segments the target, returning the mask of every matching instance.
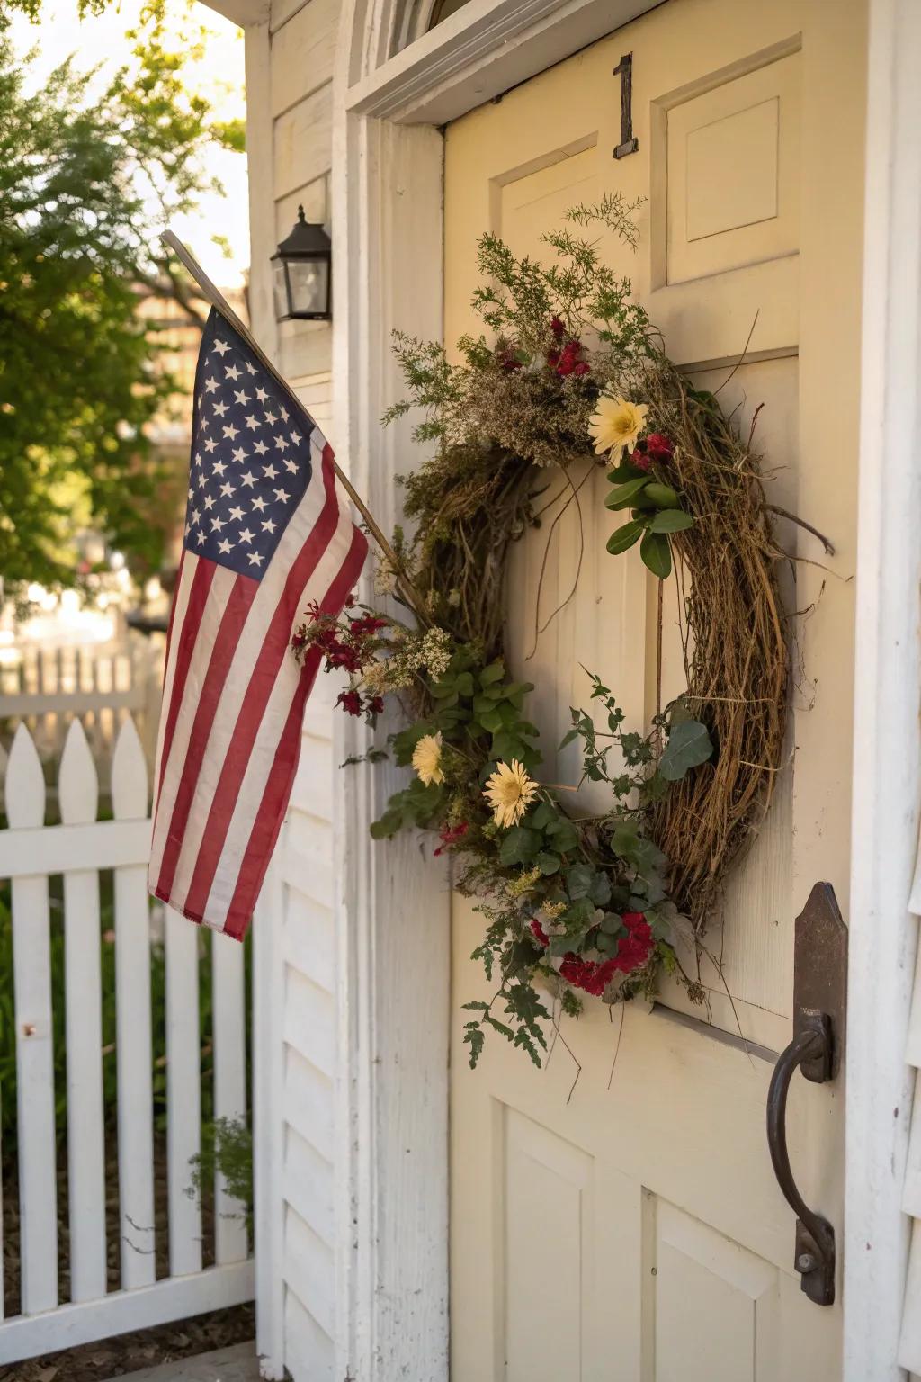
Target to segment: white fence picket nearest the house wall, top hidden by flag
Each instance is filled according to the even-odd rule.
[[[246,1119],[246,1005],[243,947],[229,936],[211,934],[214,1010],[214,1117]],[[214,1177],[214,1259],[242,1262],[247,1255],[244,1206],[228,1194],[225,1177]]]

